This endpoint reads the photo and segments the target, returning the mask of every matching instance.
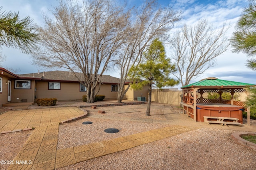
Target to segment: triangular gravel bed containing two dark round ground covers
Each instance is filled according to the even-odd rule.
[[[84,121],[91,121],[92,124],[84,125]],[[84,144],[100,142],[112,138],[119,138],[146,132],[156,128],[167,127],[168,125],[138,123],[126,121],[109,121],[103,119],[85,118],[76,122],[60,125],[58,134],[57,149],[69,148],[72,146],[80,146]],[[106,128],[117,128],[118,133],[106,133]]]

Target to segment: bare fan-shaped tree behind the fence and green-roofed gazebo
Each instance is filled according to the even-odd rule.
[[[225,37],[228,28],[226,24],[220,29],[213,28],[202,19],[194,27],[185,25],[174,34],[171,42],[174,51],[172,58],[178,71],[173,75],[182,86],[216,65],[216,57],[229,46],[228,38]]]

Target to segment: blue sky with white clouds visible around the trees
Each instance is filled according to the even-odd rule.
[[[140,5],[143,0],[128,0],[133,5]],[[234,26],[240,17],[243,7],[247,0],[159,0],[162,6],[171,6],[174,10],[182,11],[182,20],[175,25],[172,32],[181,28],[184,24],[193,25],[198,20],[205,18],[214,27],[222,26],[224,22],[231,24],[227,36],[230,37],[234,32]],[[0,0],[2,10],[18,12],[21,18],[30,16],[35,24],[43,25],[42,13],[47,13],[48,9],[56,6],[56,0]],[[170,46],[166,46],[166,51],[170,51]],[[191,81],[199,81],[206,77],[217,77],[230,81],[240,81],[244,83],[256,84],[256,72],[251,71],[245,66],[246,57],[243,53],[231,53],[232,48],[217,57],[217,65],[208,69],[201,77]],[[4,67],[20,69],[17,74],[36,73],[48,71],[45,68],[38,68],[31,64],[30,55],[20,53],[19,49],[2,47],[2,54],[6,55],[7,61],[1,63]],[[107,75],[119,77],[116,72],[106,72]],[[176,86],[180,88],[181,85]]]

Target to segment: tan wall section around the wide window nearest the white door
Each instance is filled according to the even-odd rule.
[[[7,86],[7,85],[6,85]],[[31,89],[15,89],[15,80],[12,80],[11,103],[22,102],[22,99],[27,99],[27,102],[34,102],[35,97],[35,81],[31,80]]]

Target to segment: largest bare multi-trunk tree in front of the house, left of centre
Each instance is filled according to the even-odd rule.
[[[94,103],[96,86],[122,44],[129,18],[123,10],[111,0],[60,1],[54,18],[44,16],[45,26],[38,28],[41,50],[34,52],[34,63],[69,69],[87,88],[87,103]]]

